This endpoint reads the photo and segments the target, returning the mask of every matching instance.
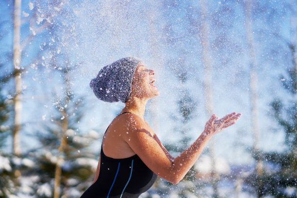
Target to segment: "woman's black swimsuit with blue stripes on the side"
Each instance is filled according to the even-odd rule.
[[[138,155],[114,159],[107,157],[101,146],[99,177],[81,198],[138,198],[156,179]]]

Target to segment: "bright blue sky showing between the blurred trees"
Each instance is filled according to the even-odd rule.
[[[29,3],[33,3],[30,10]],[[45,1],[40,5],[34,0],[22,1],[22,12],[29,16],[22,17],[21,38],[25,39],[47,23],[45,13],[55,13],[59,2],[51,5]],[[123,107],[122,103],[103,103],[96,99],[88,86],[100,68],[128,55],[141,58],[149,68],[156,71],[160,97],[148,103],[146,117],[150,117],[152,103],[156,105],[158,123],[151,126],[157,130],[162,142],[178,144],[181,139],[174,128],[180,125],[172,119],[179,116],[177,100],[181,97],[180,89],[189,90],[197,102],[197,108],[189,122],[188,135],[198,137],[208,117],[205,111],[203,92],[203,65],[201,61],[200,6],[196,1],[145,1],[113,0],[65,1],[63,12],[50,21],[52,29],[36,34],[32,43],[23,50],[23,66],[28,65],[36,54],[40,53],[35,67],[30,65],[28,73],[23,75],[23,145],[34,140],[32,132],[36,123],[49,122],[54,99],[52,92],[63,94],[63,82],[59,69],[53,68],[51,58],[61,66],[76,67],[71,72],[71,82],[75,95],[83,96],[86,103],[85,118],[80,132],[95,129],[105,131],[109,122]],[[248,92],[248,52],[245,33],[243,4],[235,0],[207,1],[209,42],[212,62],[212,83],[214,113],[223,116],[236,111],[243,114],[235,126],[218,134],[216,154],[231,163],[252,163],[247,148],[252,145],[250,127],[250,106]],[[290,39],[290,11],[287,1],[259,1],[253,4],[252,27],[254,49],[257,56],[258,75],[258,123],[261,131],[260,143],[264,150],[281,150],[283,132],[276,121],[269,115],[269,103],[275,98],[285,99],[279,75],[290,66],[289,49],[284,40]],[[0,2],[0,21],[5,25],[0,28],[0,63],[10,71],[11,60],[3,54],[12,51],[12,3]],[[33,13],[36,18],[30,18]],[[43,20],[37,24],[38,17]],[[276,36],[279,34],[280,36]],[[46,49],[48,47],[48,49]],[[64,54],[67,64],[63,59]],[[62,58],[61,58],[62,57]],[[183,64],[179,64],[182,60]],[[181,84],[176,73],[186,70],[187,82]],[[5,71],[6,72],[6,71]],[[2,73],[2,71],[1,71]],[[9,90],[13,91],[13,82]],[[6,94],[9,94],[8,92]],[[106,114],[106,112],[111,112]],[[42,117],[46,115],[45,120]],[[11,144],[8,139],[8,146]],[[98,150],[99,146],[97,145]]]

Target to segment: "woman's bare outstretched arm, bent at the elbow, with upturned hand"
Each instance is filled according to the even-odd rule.
[[[233,113],[216,120],[216,116],[213,115],[198,139],[172,161],[159,145],[158,139],[154,139],[144,128],[142,119],[135,115],[131,116],[135,122],[130,122],[127,125],[130,132],[123,137],[124,140],[154,173],[174,184],[181,181],[194,165],[211,137],[235,124],[236,120],[240,118],[240,114]]]

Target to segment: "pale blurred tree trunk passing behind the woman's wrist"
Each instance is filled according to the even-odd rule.
[[[208,117],[214,114],[214,105],[213,105],[213,94],[212,94],[212,63],[211,63],[211,55],[210,55],[210,47],[208,40],[209,26],[207,22],[208,9],[205,0],[200,0],[201,6],[201,43],[202,43],[202,63],[204,67],[204,94],[206,100],[206,112]],[[212,159],[212,167],[211,167],[211,179],[213,186],[213,198],[217,198],[217,181],[218,175],[215,171],[215,145],[214,138],[209,142],[209,152],[210,157]]]

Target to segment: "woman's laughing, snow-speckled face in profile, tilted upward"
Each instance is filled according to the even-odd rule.
[[[148,69],[143,63],[139,63],[132,80],[132,95],[140,99],[151,99],[160,95],[154,85],[155,72]]]

